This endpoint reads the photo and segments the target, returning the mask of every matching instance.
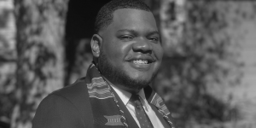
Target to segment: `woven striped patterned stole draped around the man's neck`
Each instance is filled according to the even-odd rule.
[[[121,102],[119,96],[107,82],[102,79],[101,74],[94,64],[91,64],[88,68],[85,83],[87,84],[90,96],[90,104],[94,118],[93,124],[95,128],[124,128],[131,126],[133,128],[137,125],[135,120],[131,117],[131,113],[125,108],[124,103]],[[171,114],[160,96],[158,96],[149,86],[144,90],[148,102],[153,104],[160,115],[166,119],[166,122],[174,128],[172,121],[170,120],[170,118],[172,118]],[[146,94],[147,91],[151,93]]]

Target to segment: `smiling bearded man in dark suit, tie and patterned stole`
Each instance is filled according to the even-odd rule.
[[[40,103],[33,128],[174,127],[166,105],[148,84],[163,50],[148,6],[113,0],[96,16],[94,61],[86,77]]]

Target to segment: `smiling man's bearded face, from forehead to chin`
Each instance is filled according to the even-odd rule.
[[[151,12],[118,9],[113,12],[113,22],[99,35],[99,69],[105,78],[130,92],[137,92],[151,82],[163,55]]]

